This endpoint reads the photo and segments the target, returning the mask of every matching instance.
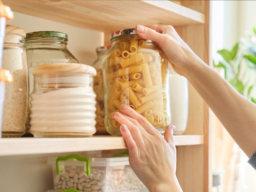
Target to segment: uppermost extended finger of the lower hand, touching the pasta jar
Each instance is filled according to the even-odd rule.
[[[148,120],[137,113],[135,110],[130,108],[127,105],[121,105],[120,106],[121,111],[124,113],[124,115],[127,115],[135,120],[138,121],[138,123],[151,135],[156,134],[156,129],[148,122]]]

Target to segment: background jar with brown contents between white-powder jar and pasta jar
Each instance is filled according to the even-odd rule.
[[[108,134],[104,124],[104,91],[103,91],[103,74],[102,59],[111,45],[96,48],[97,59],[93,62],[92,67],[97,71],[93,80],[93,89],[96,93],[96,134]]]

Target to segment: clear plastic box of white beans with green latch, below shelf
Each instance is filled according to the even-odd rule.
[[[55,190],[73,188],[82,192],[148,191],[133,172],[128,157],[86,158],[68,155],[49,157],[48,164],[52,165]]]

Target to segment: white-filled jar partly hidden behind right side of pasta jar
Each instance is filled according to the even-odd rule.
[[[178,74],[169,74],[172,124],[174,135],[185,132],[188,122],[188,80]]]

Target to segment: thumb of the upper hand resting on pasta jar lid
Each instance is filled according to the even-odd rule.
[[[161,33],[156,32],[155,30],[145,27],[143,25],[137,25],[136,33],[143,39],[149,39],[158,44],[161,44],[164,41],[165,36]]]

